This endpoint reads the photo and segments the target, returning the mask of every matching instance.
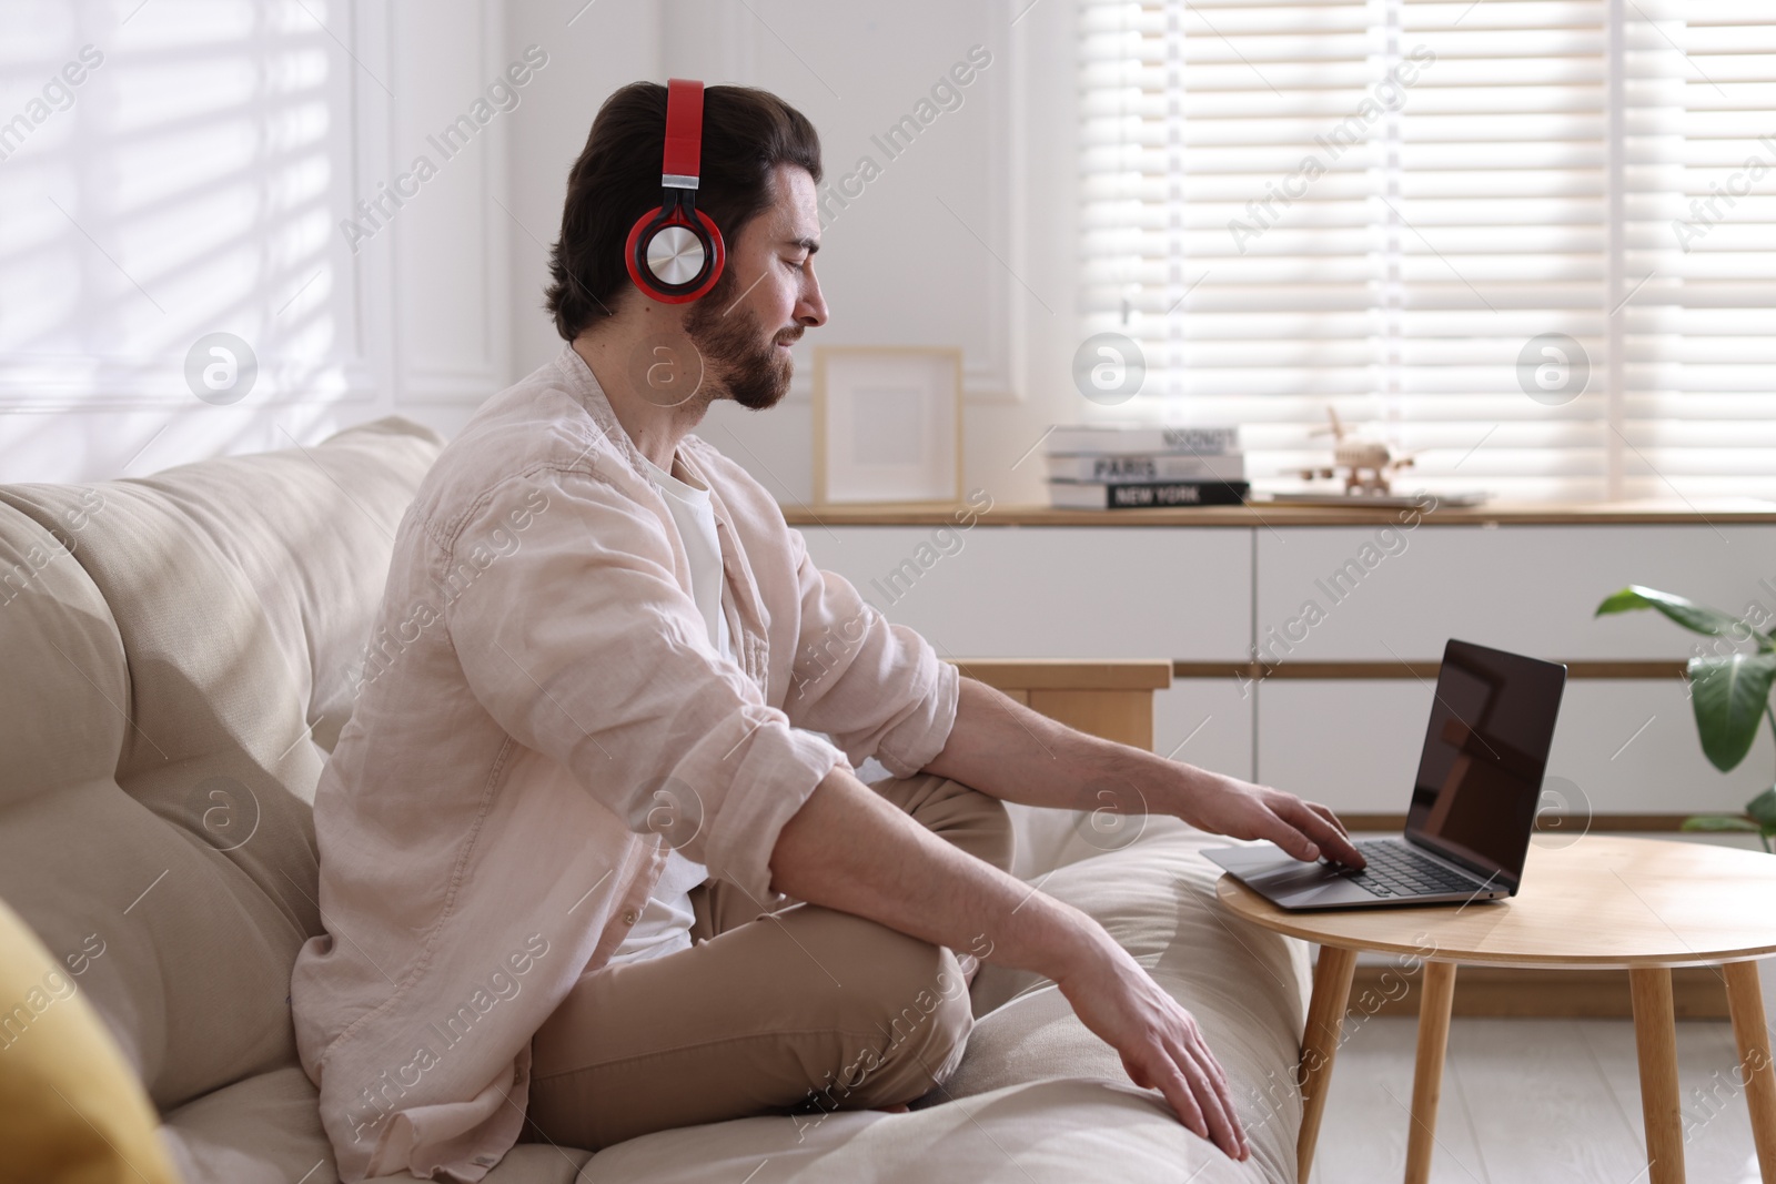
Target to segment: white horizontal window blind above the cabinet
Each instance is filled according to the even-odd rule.
[[[1082,328],[1147,362],[1082,419],[1238,422],[1261,488],[1330,405],[1407,488],[1776,497],[1776,4],[1080,4]]]

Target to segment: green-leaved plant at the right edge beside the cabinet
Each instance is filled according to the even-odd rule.
[[[1721,637],[1716,653],[1689,660],[1689,701],[1696,710],[1696,733],[1701,751],[1721,772],[1732,772],[1751,751],[1758,726],[1769,719],[1776,731],[1776,712],[1771,710],[1771,682],[1776,678],[1776,630],[1756,630],[1740,618],[1709,605],[1673,596],[1652,588],[1630,584],[1597,605],[1595,616],[1655,609],[1684,628]],[[1755,643],[1748,651],[1737,646]],[[1698,815],[1684,820],[1685,831],[1751,831],[1764,850],[1776,852],[1776,786],[1746,802],[1744,815]]]

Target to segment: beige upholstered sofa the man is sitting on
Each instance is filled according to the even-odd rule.
[[[192,1184],[337,1179],[288,1003],[321,930],[309,802],[439,447],[382,419],[146,479],[0,486],[0,898],[57,957],[85,955],[78,989]],[[961,1070],[911,1113],[749,1118],[597,1156],[526,1145],[487,1180],[1293,1180],[1304,948],[1217,914],[1197,857],[1213,840],[1176,820],[1130,841],[1014,815],[1016,872],[1195,1010],[1250,1163],[1130,1085],[1051,985],[989,966]]]

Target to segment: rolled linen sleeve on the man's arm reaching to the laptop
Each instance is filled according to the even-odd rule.
[[[874,756],[897,777],[911,777],[950,738],[961,671],[938,659],[931,643],[892,625],[836,572],[808,557],[790,529],[801,588],[801,635],[785,710],[797,728],[822,731],[852,765]]]

